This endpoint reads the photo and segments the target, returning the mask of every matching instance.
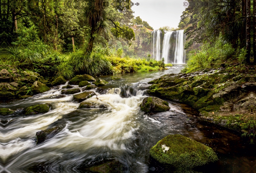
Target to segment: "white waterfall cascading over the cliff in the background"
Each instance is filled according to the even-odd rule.
[[[186,42],[186,35],[184,34],[184,30],[171,32],[164,31],[164,38],[162,39],[161,37],[161,30],[152,32],[152,53],[154,59],[161,60],[163,57],[165,63],[185,64],[186,52],[184,50],[184,45]]]

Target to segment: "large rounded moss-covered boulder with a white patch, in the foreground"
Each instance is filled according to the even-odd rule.
[[[150,149],[157,162],[173,168],[192,169],[218,161],[212,148],[182,135],[168,135]]]

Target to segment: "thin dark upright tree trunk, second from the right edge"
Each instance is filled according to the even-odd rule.
[[[251,55],[251,0],[246,0],[246,61],[250,63]]]

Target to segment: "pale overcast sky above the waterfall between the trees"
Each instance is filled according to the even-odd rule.
[[[132,10],[135,17],[140,16],[142,20],[148,22],[154,29],[161,26],[178,27],[184,0],[133,0],[140,3],[139,6],[134,5]]]

